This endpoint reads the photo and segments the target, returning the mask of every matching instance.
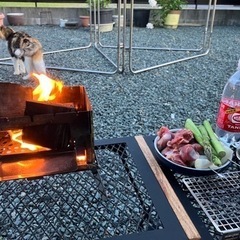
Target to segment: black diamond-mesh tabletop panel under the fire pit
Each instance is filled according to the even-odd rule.
[[[1,182],[0,239],[93,240],[162,229],[127,145],[95,153],[97,173]]]

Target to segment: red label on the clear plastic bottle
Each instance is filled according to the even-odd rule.
[[[240,132],[240,101],[222,99],[217,116],[217,126],[228,132]]]

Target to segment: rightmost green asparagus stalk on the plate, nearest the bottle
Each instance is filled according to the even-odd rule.
[[[224,150],[224,147],[223,147],[222,143],[218,140],[217,136],[215,135],[210,122],[208,120],[204,120],[203,125],[208,133],[211,145],[215,149],[217,156],[220,158],[225,157],[226,152]]]

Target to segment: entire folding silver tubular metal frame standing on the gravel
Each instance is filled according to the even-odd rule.
[[[91,3],[90,3],[91,4]],[[125,69],[125,51],[129,50],[129,69],[132,73],[141,73],[144,71],[156,69],[159,67],[167,66],[170,64],[190,60],[190,59],[195,59],[198,57],[203,57],[206,56],[209,53],[210,46],[211,46],[211,39],[212,39],[212,33],[213,33],[213,24],[214,24],[214,18],[215,18],[215,10],[216,10],[216,4],[217,0],[214,0],[212,3],[212,0],[209,0],[208,4],[208,12],[207,12],[207,17],[206,17],[206,25],[205,25],[205,30],[203,34],[203,40],[202,40],[202,46],[200,48],[196,49],[181,49],[181,48],[161,48],[161,47],[134,47],[132,40],[133,40],[133,9],[134,9],[134,0],[131,0],[131,14],[130,14],[130,38],[129,38],[129,47],[125,46],[125,40],[126,40],[126,0],[124,0],[124,6],[123,6],[123,16],[124,16],[124,24],[122,27],[122,33],[123,33],[123,38],[121,39],[121,26],[118,24],[118,40],[117,40],[117,46],[104,46],[100,42],[100,14],[98,14],[98,24],[96,24],[96,16],[97,16],[97,11],[100,11],[100,4],[99,0],[97,2],[97,6],[94,6],[94,24],[90,26],[90,43],[87,46],[82,46],[82,47],[77,47],[77,48],[69,48],[69,49],[62,49],[62,50],[56,50],[56,51],[50,51],[50,52],[45,52],[44,54],[51,54],[51,53],[60,53],[60,52],[68,52],[68,51],[78,51],[78,50],[84,50],[90,47],[93,47],[96,49],[105,59],[108,60],[108,62],[114,66],[115,70],[114,71],[94,71],[94,70],[89,70],[89,69],[78,69],[78,68],[66,68],[66,67],[53,67],[53,66],[47,66],[49,69],[57,69],[57,70],[66,70],[66,71],[77,71],[77,72],[88,72],[88,73],[100,73],[100,74],[115,74],[115,73],[122,73]],[[122,1],[118,0],[118,17],[120,19],[121,13],[121,8],[122,8]],[[91,19],[91,7],[90,7],[90,19]],[[209,27],[210,25],[210,27]],[[94,38],[92,37],[92,27],[94,28]],[[101,49],[102,48],[117,48],[117,56],[116,60],[117,63],[114,63]],[[189,56],[189,57],[183,57],[174,61],[170,62],[165,62],[159,65],[155,65],[152,67],[147,67],[147,68],[142,68],[135,70],[133,68],[133,49],[136,50],[162,50],[162,51],[185,51],[185,52],[197,52],[198,54],[194,56]],[[0,59],[0,65],[12,65],[12,63],[9,62],[4,62],[5,60],[9,60],[10,58],[2,58]]]

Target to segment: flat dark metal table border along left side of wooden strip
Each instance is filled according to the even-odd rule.
[[[164,192],[159,186],[156,178],[151,171],[138,143],[133,137],[115,138],[95,141],[95,146],[104,145],[119,145],[126,144],[131,156],[134,159],[136,167],[140,172],[140,175],[144,181],[144,184],[151,196],[156,211],[159,213],[161,221],[164,225],[163,229],[151,230],[138,234],[130,234],[119,237],[112,237],[110,239],[123,239],[123,240],[146,240],[146,239],[187,239],[184,230],[182,229],[179,221],[177,220],[174,212],[169,205],[167,198],[165,198]],[[130,175],[131,177],[131,175]],[[172,231],[174,226],[174,231]]]

